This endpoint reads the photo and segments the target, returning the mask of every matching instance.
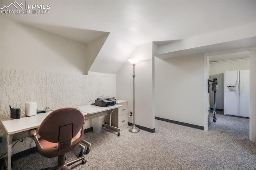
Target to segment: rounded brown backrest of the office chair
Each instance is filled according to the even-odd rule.
[[[44,119],[38,134],[49,142],[68,142],[76,136],[84,122],[84,115],[74,107],[57,109]]]

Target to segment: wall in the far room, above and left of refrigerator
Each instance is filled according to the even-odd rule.
[[[216,91],[216,109],[224,109],[224,71],[250,70],[250,59],[240,59],[233,61],[213,62],[209,64],[210,80],[214,78],[218,81],[218,91]],[[210,88],[210,108],[213,108],[214,93]]]

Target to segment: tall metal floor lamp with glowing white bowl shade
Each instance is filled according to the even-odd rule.
[[[134,78],[135,78],[135,72],[134,72],[134,69],[135,69],[135,65],[138,64],[140,59],[138,59],[138,58],[131,58],[131,59],[128,59],[128,61],[133,66],[133,73],[132,73],[132,77],[133,77],[133,125],[129,128],[129,131],[132,132],[132,133],[136,133],[136,132],[139,132],[140,129],[135,126],[135,97],[134,97],[134,90],[135,90],[134,89]]]

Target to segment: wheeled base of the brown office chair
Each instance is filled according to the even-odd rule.
[[[74,160],[70,160],[69,162],[65,162],[65,156],[61,155],[61,156],[58,156],[58,165],[44,168],[42,170],[71,170],[70,168],[68,168],[68,166],[70,166],[80,160],[82,160],[82,164],[85,164],[87,162],[87,160],[84,160],[84,156],[78,157]]]

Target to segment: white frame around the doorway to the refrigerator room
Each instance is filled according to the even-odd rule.
[[[250,51],[250,132],[249,139],[256,142],[256,46],[204,53],[204,130],[208,130],[208,69],[211,55]]]

